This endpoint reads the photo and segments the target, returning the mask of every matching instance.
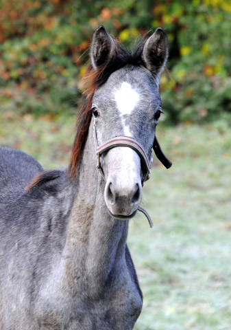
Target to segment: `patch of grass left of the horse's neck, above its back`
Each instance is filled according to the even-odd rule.
[[[11,115],[11,113],[9,113]],[[38,160],[44,168],[67,166],[74,138],[75,117],[45,115],[34,118],[0,117],[0,146],[17,148]]]

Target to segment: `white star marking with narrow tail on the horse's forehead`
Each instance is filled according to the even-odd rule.
[[[129,115],[132,112],[139,100],[139,95],[128,83],[122,83],[119,91],[114,93],[114,99],[116,100],[117,107],[121,112],[125,135],[131,136],[129,128],[125,125],[125,118],[123,115]]]

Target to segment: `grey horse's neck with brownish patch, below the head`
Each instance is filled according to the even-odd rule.
[[[69,276],[88,278],[88,285],[103,285],[114,267],[125,260],[128,222],[113,219],[104,201],[104,180],[97,170],[97,155],[90,124],[82,161],[75,179],[76,197],[64,249]],[[98,286],[99,287],[99,286]]]

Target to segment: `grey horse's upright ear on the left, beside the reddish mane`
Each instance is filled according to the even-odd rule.
[[[108,62],[114,54],[114,41],[106,32],[104,26],[97,28],[93,34],[90,47],[90,58],[94,69]]]

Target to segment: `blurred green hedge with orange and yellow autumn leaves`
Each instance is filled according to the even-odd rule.
[[[231,121],[230,21],[229,0],[1,0],[0,114],[76,112],[86,51],[103,24],[127,47],[165,28],[167,121]]]

